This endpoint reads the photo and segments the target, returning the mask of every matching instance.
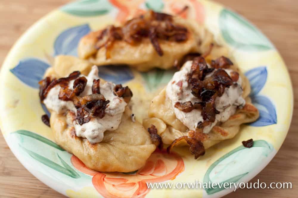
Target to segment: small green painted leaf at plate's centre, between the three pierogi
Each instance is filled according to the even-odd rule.
[[[175,70],[152,69],[149,72],[141,72],[141,74],[146,82],[146,88],[151,92],[167,84],[175,72]]]

